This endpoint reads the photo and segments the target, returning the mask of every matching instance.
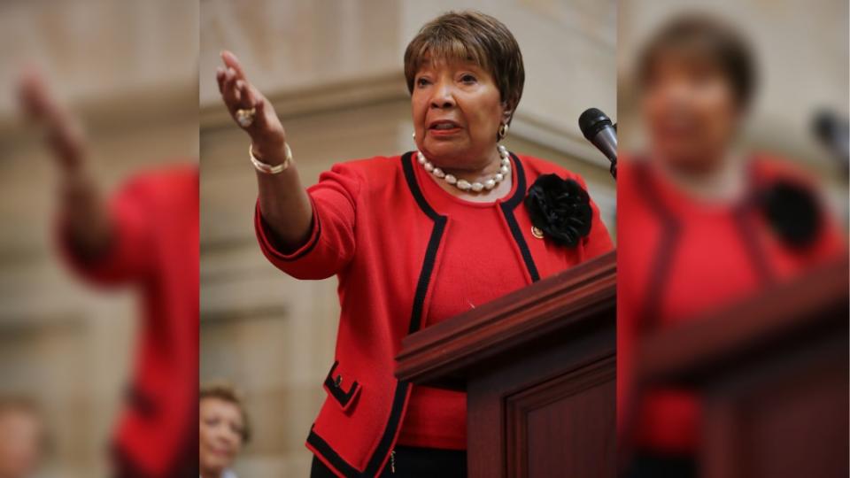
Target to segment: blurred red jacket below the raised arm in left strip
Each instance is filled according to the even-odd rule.
[[[104,257],[83,260],[60,232],[67,261],[101,286],[141,293],[127,407],[114,437],[121,473],[171,477],[197,462],[198,171],[135,174],[110,199],[115,233]]]

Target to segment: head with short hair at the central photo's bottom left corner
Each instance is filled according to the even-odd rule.
[[[242,398],[228,385],[202,387],[198,416],[201,478],[236,478],[230,467],[251,440]]]

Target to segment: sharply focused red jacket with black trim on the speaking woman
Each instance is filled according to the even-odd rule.
[[[539,240],[522,200],[543,173],[558,173],[583,185],[574,173],[537,158],[513,156],[514,190],[498,201],[502,226],[511,237],[512,264],[522,265],[526,284],[612,249],[595,204],[590,235],[575,249]],[[452,219],[422,193],[432,181],[413,161],[371,158],[334,166],[309,189],[313,231],[297,251],[274,247],[260,211],[255,227],[266,257],[299,279],[337,275],[341,318],[336,360],[328,372],[328,393],[307,438],[307,447],[340,476],[377,476],[395,446],[405,420],[412,385],[393,375],[401,339],[422,327],[429,315],[436,271]],[[487,268],[488,251],[469,263]],[[507,292],[507,291],[505,291]]]

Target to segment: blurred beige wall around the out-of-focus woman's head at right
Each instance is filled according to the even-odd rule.
[[[704,12],[745,35],[757,60],[759,82],[741,143],[797,162],[822,181],[833,211],[846,217],[846,170],[817,138],[813,123],[819,112],[847,119],[847,2],[621,0],[617,12],[621,150],[645,145],[633,71],[638,49],[669,19]]]

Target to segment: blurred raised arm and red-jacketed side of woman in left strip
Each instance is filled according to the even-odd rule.
[[[198,168],[136,172],[104,195],[81,120],[27,70],[19,100],[43,127],[58,172],[58,247],[73,272],[99,287],[139,291],[139,340],[112,441],[118,478],[197,473]]]

